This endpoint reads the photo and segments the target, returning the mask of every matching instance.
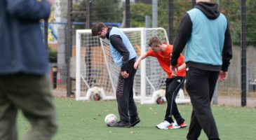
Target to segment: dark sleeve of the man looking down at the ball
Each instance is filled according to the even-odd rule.
[[[126,71],[130,52],[127,50],[126,45],[123,44],[121,36],[114,34],[109,37],[109,41],[113,47],[123,56],[121,71]]]

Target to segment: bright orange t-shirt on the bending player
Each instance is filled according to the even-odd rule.
[[[154,52],[153,50],[149,50],[147,52],[147,56],[156,57],[159,61],[159,64],[163,68],[163,71],[166,71],[168,78],[172,78],[172,71],[170,70],[170,54],[173,52],[173,45],[167,45],[166,50],[164,52]],[[177,59],[178,66],[184,63],[184,56],[180,54],[180,57]],[[186,69],[182,69],[177,71],[177,76],[186,76]]]

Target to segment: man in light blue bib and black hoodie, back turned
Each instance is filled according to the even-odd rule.
[[[177,58],[185,45],[186,88],[193,106],[187,139],[198,139],[202,129],[208,139],[220,139],[210,102],[217,79],[227,78],[232,49],[227,18],[216,3],[197,0],[184,15],[174,43],[173,73],[177,72]]]

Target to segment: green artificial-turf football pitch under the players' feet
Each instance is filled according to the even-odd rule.
[[[185,140],[189,127],[177,130],[158,130],[166,111],[166,103],[137,104],[141,122],[131,128],[107,127],[104,118],[109,113],[118,116],[116,101],[76,102],[69,98],[55,98],[59,129],[54,140]],[[178,104],[187,124],[190,123],[191,105]],[[256,109],[213,106],[213,114],[222,140],[256,139]],[[119,118],[119,116],[118,116]],[[30,129],[27,120],[19,113],[20,138]],[[201,132],[200,140],[207,139]]]

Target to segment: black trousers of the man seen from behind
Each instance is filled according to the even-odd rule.
[[[218,76],[219,71],[204,71],[195,67],[187,69],[186,88],[193,106],[187,134],[189,140],[198,139],[202,129],[208,139],[219,139],[217,126],[210,109]]]

